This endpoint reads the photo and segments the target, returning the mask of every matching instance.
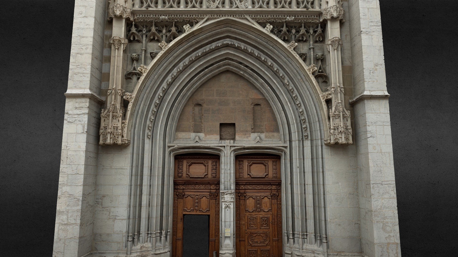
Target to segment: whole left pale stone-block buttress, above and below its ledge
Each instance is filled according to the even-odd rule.
[[[75,3],[53,256],[92,249],[106,1]]]

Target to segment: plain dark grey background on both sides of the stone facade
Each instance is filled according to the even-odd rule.
[[[2,1],[4,256],[52,253],[73,5],[71,0]],[[458,2],[380,0],[380,5],[402,255],[453,256],[458,250]]]

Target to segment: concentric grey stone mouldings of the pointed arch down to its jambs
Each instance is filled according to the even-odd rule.
[[[285,253],[310,252],[308,246],[326,251],[322,147],[327,112],[307,66],[277,38],[230,18],[196,26],[165,48],[139,80],[127,111],[132,139],[128,249],[129,242],[136,245],[135,238],[142,235],[138,242],[151,243],[154,252],[169,251],[169,170],[176,151],[212,151],[224,159],[223,169],[233,170],[237,152],[270,149],[284,160]],[[174,129],[183,105],[203,82],[224,70],[242,75],[264,94],[277,116],[282,144],[175,145]],[[233,179],[222,177],[221,189],[234,190]]]

